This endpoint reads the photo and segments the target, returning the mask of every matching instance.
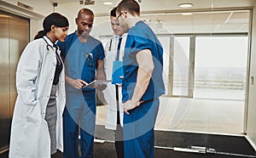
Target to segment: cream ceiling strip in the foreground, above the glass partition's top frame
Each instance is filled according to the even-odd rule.
[[[70,8],[80,5],[80,0],[50,0],[52,3],[67,4]],[[96,14],[108,14],[109,9],[115,7],[119,0],[86,0],[95,1],[93,5],[87,5]],[[113,2],[113,5],[104,5],[106,1]],[[179,3],[193,3],[191,9],[201,8],[237,8],[237,7],[251,7],[256,2],[255,0],[137,0],[140,1],[142,12],[160,11],[160,10],[185,10],[186,8],[179,8]]]

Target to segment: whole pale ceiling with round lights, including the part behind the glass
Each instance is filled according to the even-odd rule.
[[[108,0],[113,2],[113,5],[103,5],[107,0],[95,0],[92,5],[81,5],[79,0],[50,1],[58,3],[58,7],[66,10],[67,14],[77,13],[79,8],[83,7],[92,9],[96,14],[95,23],[99,26],[99,29],[102,29],[102,26],[104,28],[106,24],[109,25],[109,11],[119,3],[119,0]],[[142,19],[159,34],[247,32],[250,17],[248,8],[252,8],[256,3],[256,0],[138,1],[141,2]],[[179,8],[179,3],[193,3],[194,5],[191,8]],[[191,14],[182,15],[182,13]],[[111,31],[110,28],[107,30]],[[108,31],[106,29],[102,30],[102,32]]]

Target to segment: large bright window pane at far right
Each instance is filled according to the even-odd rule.
[[[247,37],[195,38],[195,98],[244,100]]]

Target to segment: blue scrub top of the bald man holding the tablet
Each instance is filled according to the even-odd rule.
[[[88,83],[96,79],[96,61],[105,58],[102,42],[90,36],[87,42],[80,42],[76,32],[73,32],[67,36],[65,42],[59,41],[57,45],[61,48],[61,58],[65,59],[67,76]],[[77,91],[77,89],[67,84],[67,91]]]

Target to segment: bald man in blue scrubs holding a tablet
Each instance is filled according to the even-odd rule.
[[[64,158],[93,157],[96,90],[84,88],[95,79],[106,79],[102,42],[90,37],[94,20],[88,8],[79,10],[77,31],[58,42],[65,61],[67,102],[63,113]],[[99,87],[100,88],[100,87]],[[79,129],[81,156],[79,156]]]

